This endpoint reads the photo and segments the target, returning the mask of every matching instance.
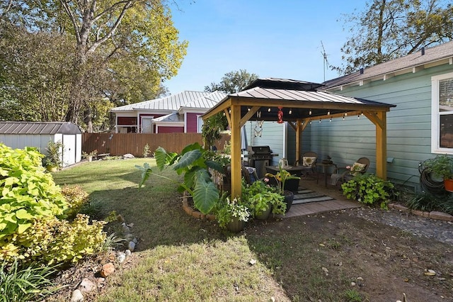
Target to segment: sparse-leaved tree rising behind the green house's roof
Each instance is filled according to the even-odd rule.
[[[365,10],[344,16],[350,38],[343,45],[343,66],[350,74],[411,54],[422,46],[453,40],[453,5],[441,0],[372,0]]]

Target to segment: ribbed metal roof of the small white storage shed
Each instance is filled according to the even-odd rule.
[[[0,121],[2,134],[80,134],[79,126],[66,122]]]

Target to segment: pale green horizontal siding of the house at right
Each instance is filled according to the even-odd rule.
[[[396,105],[386,115],[387,157],[394,158],[394,162],[387,163],[390,180],[417,186],[418,164],[434,157],[430,145],[431,77],[452,70],[452,65],[442,65],[333,91]],[[336,164],[352,164],[365,156],[371,160],[369,172],[375,172],[374,144],[375,128],[365,116],[348,116],[344,121],[337,118],[331,123],[313,122],[311,127],[311,147],[333,157]]]

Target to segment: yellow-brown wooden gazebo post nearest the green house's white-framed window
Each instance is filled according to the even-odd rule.
[[[381,123],[376,125],[376,176],[387,179],[387,121],[385,111],[377,112],[377,118]]]

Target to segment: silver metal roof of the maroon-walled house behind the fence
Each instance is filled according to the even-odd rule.
[[[182,91],[178,94],[172,94],[171,96],[164,96],[160,99],[154,99],[149,101],[142,101],[140,103],[120,106],[112,108],[113,112],[121,111],[133,111],[133,110],[162,110],[162,111],[178,111],[178,109],[184,104],[196,101],[203,96],[208,96],[211,92],[207,91]]]

